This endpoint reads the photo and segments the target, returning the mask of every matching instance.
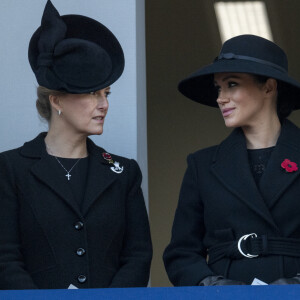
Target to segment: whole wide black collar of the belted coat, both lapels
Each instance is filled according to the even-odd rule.
[[[286,173],[281,163],[288,158],[300,166],[299,153],[300,130],[285,120],[259,192],[249,167],[245,136],[237,128],[217,147],[211,171],[230,192],[278,230],[270,209],[300,174],[300,170]]]

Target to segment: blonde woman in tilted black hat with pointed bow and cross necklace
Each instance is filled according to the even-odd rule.
[[[0,154],[0,288],[146,286],[152,246],[134,160],[96,146],[124,56],[115,36],[47,2],[29,61],[49,123]]]

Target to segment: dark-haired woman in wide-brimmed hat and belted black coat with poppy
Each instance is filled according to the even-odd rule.
[[[300,84],[287,67],[276,44],[241,35],[179,83],[234,130],[188,156],[164,252],[174,285],[300,283],[300,130],[286,119]]]

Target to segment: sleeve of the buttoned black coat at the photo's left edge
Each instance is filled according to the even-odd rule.
[[[19,234],[17,185],[9,158],[0,155],[0,289],[37,289],[25,269]]]

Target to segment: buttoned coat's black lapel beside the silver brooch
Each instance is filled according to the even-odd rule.
[[[86,184],[85,199],[82,205],[83,215],[87,214],[94,201],[118,178],[119,174],[111,170],[111,164],[102,153],[104,149],[97,147],[88,139],[89,171]]]

